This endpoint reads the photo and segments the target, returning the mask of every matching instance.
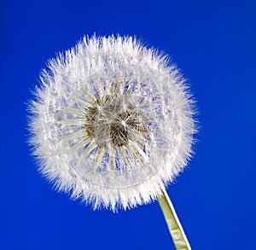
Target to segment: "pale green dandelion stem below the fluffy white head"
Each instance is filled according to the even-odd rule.
[[[166,189],[162,190],[162,195],[157,197],[161,210],[166,218],[166,224],[172,235],[172,240],[177,250],[191,250],[189,241],[183,231],[183,227],[180,224],[177,214],[172,205]]]

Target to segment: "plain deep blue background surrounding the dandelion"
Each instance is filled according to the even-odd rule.
[[[193,249],[256,249],[255,1],[14,1],[0,6],[0,249],[174,249],[157,202],[93,212],[56,193],[26,144],[44,62],[84,34],[172,55],[198,101],[195,157],[168,193]]]

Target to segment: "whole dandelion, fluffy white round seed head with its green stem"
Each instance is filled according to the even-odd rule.
[[[48,63],[30,102],[30,143],[56,189],[95,209],[158,199],[177,249],[190,249],[165,187],[183,170],[193,102],[166,55],[132,37],[84,37]]]

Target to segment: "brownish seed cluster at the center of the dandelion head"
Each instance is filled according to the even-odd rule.
[[[124,108],[118,96],[97,98],[96,103],[86,112],[85,129],[99,147],[113,148],[127,146],[139,125],[139,113],[131,104]]]

